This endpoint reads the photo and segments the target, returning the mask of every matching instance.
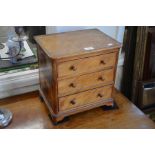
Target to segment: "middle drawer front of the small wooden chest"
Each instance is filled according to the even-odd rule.
[[[114,68],[100,72],[81,75],[74,78],[58,81],[58,94],[65,96],[90,88],[110,84],[114,80]]]

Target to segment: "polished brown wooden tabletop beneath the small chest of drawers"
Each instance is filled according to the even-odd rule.
[[[38,92],[0,100],[0,107],[13,112],[13,120],[7,128],[155,128],[155,123],[143,114],[121,93],[113,94],[119,109],[103,111],[96,108],[69,117],[69,121],[54,126],[48,111],[39,99]]]

